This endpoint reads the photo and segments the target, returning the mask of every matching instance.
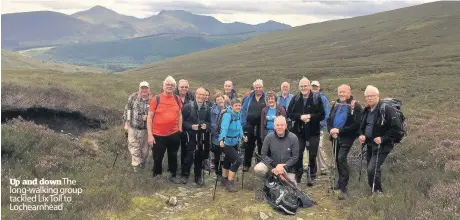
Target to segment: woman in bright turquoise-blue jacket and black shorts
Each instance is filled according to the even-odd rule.
[[[234,99],[232,107],[228,107],[226,113],[221,116],[221,128],[219,134],[219,146],[225,154],[222,166],[221,183],[226,186],[229,192],[238,191],[235,187],[236,171],[241,165],[241,158],[238,156],[238,143],[247,137],[243,135],[243,127],[240,121],[241,101]]]

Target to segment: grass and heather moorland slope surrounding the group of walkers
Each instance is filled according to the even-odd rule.
[[[357,181],[358,145],[349,156],[350,199],[338,201],[329,196],[328,180],[323,177],[313,188],[300,185],[318,201],[318,206],[286,217],[251,199],[252,173],[245,174],[245,189],[236,194],[230,195],[219,187],[216,201],[212,201],[212,178],[208,176],[209,185],[195,189],[191,184],[178,188],[164,178],[153,181],[150,171],[131,174],[120,126],[110,125],[105,131],[87,133],[75,140],[43,127],[15,123],[2,124],[3,192],[11,176],[69,176],[86,191],[64,212],[18,215],[3,205],[2,217],[258,219],[259,212],[265,212],[273,215],[270,219],[458,219],[458,6],[456,2],[438,2],[307,25],[117,75],[2,71],[2,109],[40,104],[80,111],[91,118],[110,115],[113,124],[118,125],[126,97],[137,90],[138,83],[149,81],[157,93],[167,74],[177,80],[190,79],[193,88],[221,88],[225,79],[231,79],[240,93],[256,78],[264,79],[266,90],[278,90],[282,80],[295,82],[305,75],[320,80],[330,99],[337,96],[338,85],[348,83],[361,103],[366,85],[373,84],[381,96],[401,99],[407,117],[408,136],[382,167],[386,190],[383,197],[369,197],[365,181]],[[46,99],[47,94],[53,98]],[[118,149],[123,150],[124,156],[119,157],[116,168],[110,169]],[[330,144],[326,152],[330,152]],[[167,206],[161,195],[178,196],[182,203]],[[2,199],[7,200],[7,194],[3,193]]]

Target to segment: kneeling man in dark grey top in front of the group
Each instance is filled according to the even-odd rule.
[[[287,129],[286,118],[277,116],[274,121],[275,132],[272,132],[265,137],[264,145],[262,146],[261,157],[264,161],[269,162],[274,168],[271,172],[275,175],[287,173],[294,184],[296,163],[299,159],[299,140],[297,136]],[[257,184],[255,197],[258,200],[263,199],[263,183],[266,174],[269,172],[268,167],[259,162],[254,167],[254,172],[261,178],[262,184]]]

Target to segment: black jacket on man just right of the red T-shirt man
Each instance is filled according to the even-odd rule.
[[[203,130],[193,130],[192,125],[194,124],[202,124],[204,122],[206,123],[206,130],[211,129],[211,108],[205,106],[207,105],[203,103],[201,111],[198,111],[198,104],[196,101],[193,101],[185,104],[182,108],[182,125],[190,137],[193,137],[198,132],[199,134],[202,134],[203,132]]]

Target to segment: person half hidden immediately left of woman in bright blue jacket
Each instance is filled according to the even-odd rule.
[[[219,146],[219,132],[217,131],[217,120],[220,113],[227,108],[227,105],[225,104],[224,95],[220,92],[214,95],[214,102],[215,103],[211,108],[211,152],[214,153],[214,160],[211,162],[212,164],[214,164],[216,176],[220,181],[222,178],[222,168],[219,169],[219,158],[220,154],[222,153],[222,148]]]

